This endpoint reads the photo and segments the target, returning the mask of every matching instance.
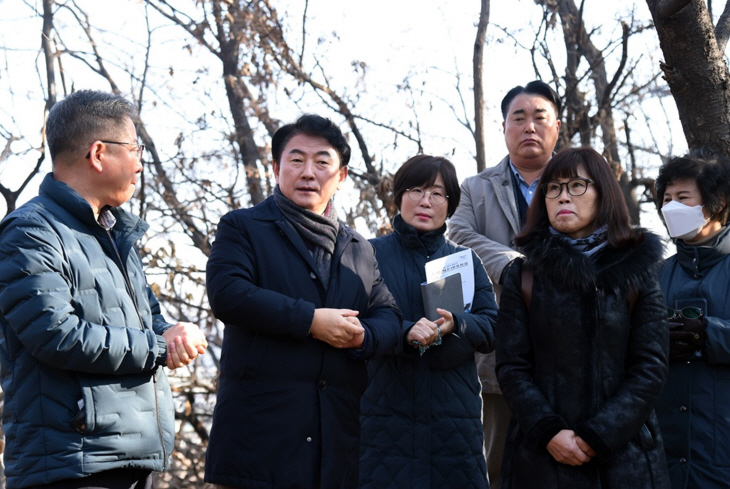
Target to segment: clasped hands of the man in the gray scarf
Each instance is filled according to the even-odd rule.
[[[309,333],[335,348],[362,348],[365,328],[357,315],[352,309],[315,309]]]

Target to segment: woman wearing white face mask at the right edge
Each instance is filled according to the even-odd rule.
[[[672,489],[730,481],[730,161],[701,150],[659,170],[657,200],[677,245],[661,275],[669,378],[656,406]]]

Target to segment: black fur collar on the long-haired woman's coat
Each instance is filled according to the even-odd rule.
[[[634,246],[617,249],[610,244],[592,256],[575,251],[570,244],[551,235],[538,234],[522,248],[526,263],[535,275],[550,277],[561,287],[586,292],[637,290],[647,278],[656,277],[663,255],[661,240],[646,230]]]

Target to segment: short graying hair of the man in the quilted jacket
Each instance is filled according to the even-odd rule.
[[[97,90],[72,93],[48,114],[46,143],[51,160],[65,152],[82,154],[97,139],[114,137],[127,118],[134,122],[137,108],[124,97]]]

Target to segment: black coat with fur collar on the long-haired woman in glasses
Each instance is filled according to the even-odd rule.
[[[545,233],[523,251],[534,270],[529,312],[518,259],[496,329],[497,377],[513,413],[500,487],[669,487],[654,414],[669,345],[661,242],[644,233],[634,246],[607,244],[589,257]],[[546,447],[562,429],[597,455],[575,467],[555,461]]]

